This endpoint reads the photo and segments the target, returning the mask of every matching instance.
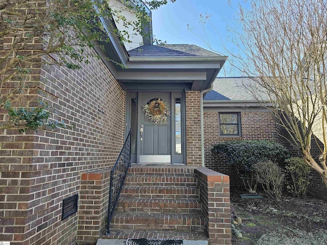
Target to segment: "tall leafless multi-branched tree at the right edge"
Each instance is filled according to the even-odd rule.
[[[260,92],[269,96],[286,138],[327,187],[326,19],[325,0],[253,0],[250,10],[240,8],[233,30],[242,53],[231,55],[253,77],[249,91],[258,100]],[[322,142],[319,158],[311,153],[313,139]]]

